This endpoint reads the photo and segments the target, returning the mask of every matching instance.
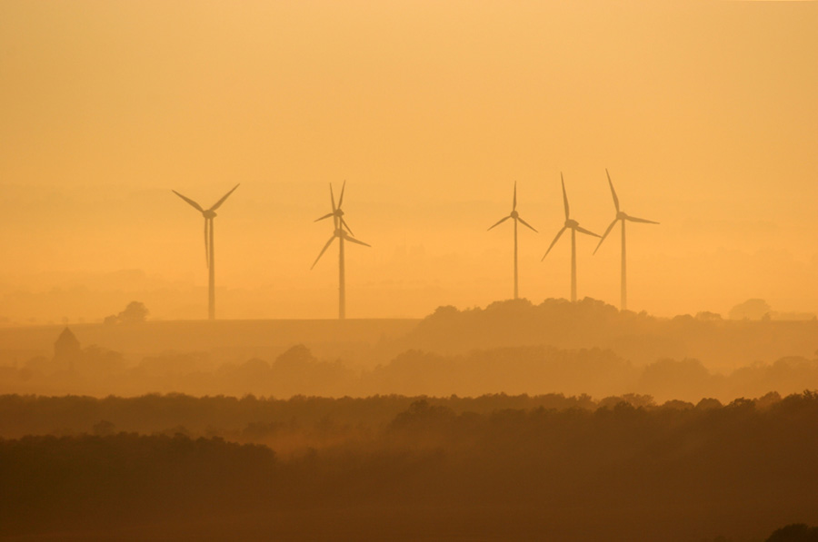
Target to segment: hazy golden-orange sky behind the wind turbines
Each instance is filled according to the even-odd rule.
[[[349,317],[569,294],[573,218],[625,212],[630,307],[818,311],[818,3],[0,2],[0,317],[127,301],[332,318],[328,183],[373,248]],[[577,242],[580,297],[618,304],[619,237]],[[138,270],[136,272],[134,270]]]

